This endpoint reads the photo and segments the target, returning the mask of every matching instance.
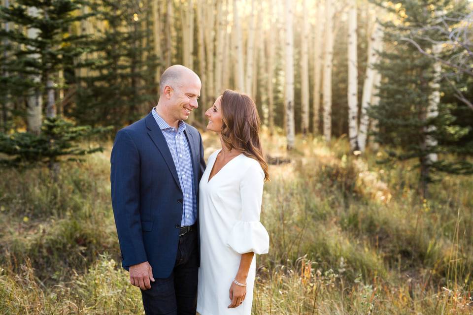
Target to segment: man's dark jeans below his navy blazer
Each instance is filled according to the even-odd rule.
[[[176,263],[166,279],[141,290],[146,315],[196,315],[199,252],[197,230],[179,236]]]

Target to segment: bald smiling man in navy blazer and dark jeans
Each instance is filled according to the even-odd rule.
[[[198,107],[199,76],[182,65],[161,76],[158,104],[118,131],[111,154],[112,207],[122,265],[145,313],[196,314],[198,183],[202,137],[184,123]]]

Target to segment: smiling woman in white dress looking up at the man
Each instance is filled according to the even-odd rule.
[[[227,90],[205,112],[207,129],[222,149],[207,161],[199,185],[201,267],[197,311],[202,315],[250,315],[255,253],[268,252],[260,223],[263,183],[268,180],[253,100]]]

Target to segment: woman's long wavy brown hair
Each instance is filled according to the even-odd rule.
[[[260,117],[250,96],[226,90],[220,99],[222,111],[222,140],[229,149],[241,151],[248,158],[256,159],[270,179],[268,163],[260,141]]]

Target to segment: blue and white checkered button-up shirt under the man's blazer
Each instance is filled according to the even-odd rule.
[[[191,151],[187,143],[184,130],[186,124],[179,121],[178,128],[171,127],[153,108],[153,117],[160,127],[163,135],[168,143],[172,160],[176,166],[179,183],[184,195],[184,211],[182,212],[181,226],[192,225],[197,218],[197,198],[196,189],[194,187],[194,173],[192,171]]]

